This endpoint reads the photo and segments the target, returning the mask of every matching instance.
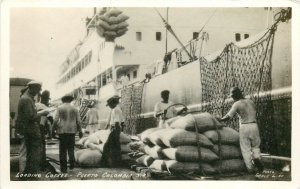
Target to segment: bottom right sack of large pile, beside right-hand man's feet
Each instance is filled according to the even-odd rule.
[[[237,173],[246,171],[246,166],[241,159],[229,159],[216,162],[213,167],[221,173]]]

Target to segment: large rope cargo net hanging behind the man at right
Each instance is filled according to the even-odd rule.
[[[264,151],[272,142],[271,57],[274,31],[268,30],[259,40],[245,47],[231,43],[214,60],[199,59],[202,85],[202,111],[224,116],[232,106],[231,87],[239,87],[256,105]],[[227,100],[226,100],[227,99]],[[238,130],[238,118],[227,123]]]

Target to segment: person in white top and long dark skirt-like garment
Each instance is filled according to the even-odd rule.
[[[119,167],[121,166],[121,144],[120,133],[123,126],[123,113],[119,106],[118,95],[114,95],[107,100],[107,105],[111,109],[105,129],[110,129],[111,133],[103,147],[103,155],[100,165],[102,167]]]

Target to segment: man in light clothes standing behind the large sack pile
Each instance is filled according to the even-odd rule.
[[[173,106],[174,103],[169,100],[170,91],[163,90],[161,93],[162,101],[159,101],[155,104],[154,107],[154,116],[158,118],[158,127],[167,128],[166,120],[173,118],[177,115],[176,109]]]

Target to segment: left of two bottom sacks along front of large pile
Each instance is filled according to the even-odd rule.
[[[176,160],[166,160],[166,167],[168,171],[172,174],[182,174],[182,173],[190,173],[197,172],[201,173],[199,163],[195,162],[178,162]],[[201,169],[204,174],[215,174],[216,169],[208,163],[201,163]]]

